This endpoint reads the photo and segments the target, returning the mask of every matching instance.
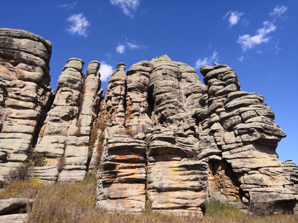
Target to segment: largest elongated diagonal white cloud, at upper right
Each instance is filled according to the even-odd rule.
[[[276,29],[276,25],[273,24],[274,21],[263,22],[263,28],[258,29],[257,34],[255,36],[251,36],[249,34],[239,36],[237,43],[241,44],[242,50],[246,51],[247,49],[254,48],[255,45],[259,45],[263,42],[268,42],[271,37],[267,35],[271,32],[274,32]]]

